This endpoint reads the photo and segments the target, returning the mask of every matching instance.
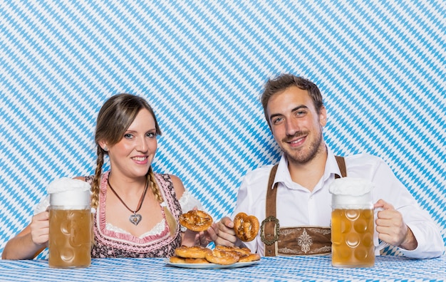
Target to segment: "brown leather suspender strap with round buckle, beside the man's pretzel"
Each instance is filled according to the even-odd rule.
[[[260,237],[265,244],[265,256],[276,256],[276,241],[279,239],[279,220],[276,219],[277,184],[273,188],[278,166],[274,165],[269,173],[266,188],[266,219],[261,222]]]

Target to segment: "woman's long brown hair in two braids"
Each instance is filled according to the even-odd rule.
[[[102,176],[102,167],[104,164],[104,155],[108,155],[108,152],[100,147],[99,142],[107,142],[108,145],[115,145],[120,142],[123,138],[125,131],[135,120],[136,115],[140,110],[146,109],[152,115],[155,120],[155,130],[157,135],[161,135],[160,126],[158,125],[155,113],[150,107],[149,103],[144,98],[136,95],[131,95],[127,93],[122,93],[110,97],[105,101],[102,108],[100,108],[98,113],[98,120],[96,120],[96,130],[95,130],[95,142],[97,146],[96,169],[93,182],[91,184],[91,207],[97,208],[99,202],[99,190],[100,190],[100,179]],[[152,166],[146,174],[147,182],[152,193],[155,195],[155,199],[162,203],[162,194],[160,188],[155,180],[155,174],[152,170]],[[164,207],[165,216],[167,219],[167,224],[170,228],[170,234],[173,235],[177,229],[177,221],[170,213],[167,206]]]

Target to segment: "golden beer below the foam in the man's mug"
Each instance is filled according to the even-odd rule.
[[[333,209],[331,262],[333,266],[370,267],[375,264],[373,209]]]

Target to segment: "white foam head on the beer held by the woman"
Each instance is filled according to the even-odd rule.
[[[51,182],[47,187],[51,206],[85,207],[90,206],[90,184],[79,179],[63,177]]]

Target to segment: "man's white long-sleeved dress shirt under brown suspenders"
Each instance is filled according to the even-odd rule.
[[[274,183],[278,182],[276,198],[276,217],[281,227],[321,226],[330,227],[331,194],[328,187],[335,179],[334,174],[341,175],[333,152],[328,149],[325,172],[313,191],[293,182],[288,170],[286,157],[282,156],[276,172]],[[444,251],[440,229],[432,221],[430,214],[420,208],[408,189],[395,177],[379,157],[361,154],[345,157],[347,177],[363,178],[373,182],[373,202],[383,199],[392,204],[403,214],[403,220],[410,227],[418,241],[417,249],[407,251],[400,249],[412,258],[432,258],[441,256]],[[234,215],[245,212],[261,221],[265,216],[266,186],[273,165],[260,167],[249,172],[242,182],[237,195]],[[274,185],[273,185],[274,186]],[[376,213],[375,213],[376,216]],[[234,218],[234,216],[233,216]],[[378,246],[378,234],[375,231],[375,246]],[[264,256],[264,243],[260,236],[251,242],[244,242],[251,251]],[[375,251],[379,255],[379,249]]]

